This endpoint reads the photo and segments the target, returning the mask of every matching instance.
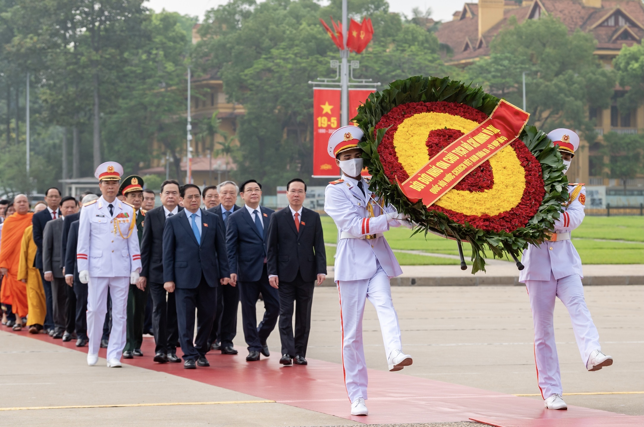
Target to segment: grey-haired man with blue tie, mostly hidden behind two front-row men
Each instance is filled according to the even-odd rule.
[[[232,181],[223,181],[215,188],[219,195],[218,206],[208,209],[208,212],[216,213],[223,219],[223,224],[228,223],[228,217],[240,210],[237,206],[237,194],[239,188]],[[204,197],[212,193],[208,187],[204,188]],[[210,349],[221,350],[222,354],[237,354],[232,347],[232,340],[237,334],[237,309],[240,305],[240,288],[237,286],[222,285],[217,292],[217,315],[213,322],[213,331],[210,333]]]

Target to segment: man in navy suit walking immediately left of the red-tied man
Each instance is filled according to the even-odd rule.
[[[243,208],[231,214],[226,225],[226,248],[231,265],[231,284],[239,281],[243,334],[248,345],[247,361],[270,356],[266,343],[279,316],[278,290],[269,284],[266,242],[273,211],[260,206],[261,185],[249,179],[240,186]],[[264,298],[264,317],[257,325],[257,298]]]

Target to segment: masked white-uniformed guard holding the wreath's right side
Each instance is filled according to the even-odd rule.
[[[567,172],[579,147],[579,136],[570,129],[555,129],[548,134],[559,146]],[[571,242],[571,231],[583,221],[586,190],[583,184],[568,185],[569,198],[564,203],[549,241],[528,246],[523,253],[525,269],[519,282],[526,284],[535,324],[535,361],[539,389],[548,409],[567,409],[562,399],[559,359],[554,342],[553,311],[558,296],[573,322],[573,332],[582,362],[587,370],[600,370],[612,365],[611,356],[601,352],[600,337],[592,323],[591,313],[583,298],[582,260]]]

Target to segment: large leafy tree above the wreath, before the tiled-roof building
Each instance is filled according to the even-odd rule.
[[[511,18],[490,44],[489,58],[466,72],[493,95],[522,105],[522,73],[526,71],[530,123],[540,129],[572,127],[594,139],[587,107],[607,108],[615,85],[614,71],[594,56],[591,34],[575,30],[552,17],[518,24]]]

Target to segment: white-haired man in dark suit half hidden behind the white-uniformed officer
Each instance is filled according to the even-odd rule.
[[[81,201],[82,204],[90,203],[99,198],[96,194],[88,192]],[[78,246],[79,239],[79,218],[81,213],[72,213],[67,215],[63,221],[62,229],[62,241],[65,244],[64,255],[62,257],[65,261],[64,274],[65,282],[73,290],[74,295],[76,296],[76,307],[75,307],[75,327],[76,327],[76,347],[85,347],[90,340],[87,336],[87,284],[82,283],[79,278],[79,269],[76,262],[76,248]],[[68,221],[71,221],[68,223]],[[65,232],[65,229],[68,232]],[[68,314],[69,316],[70,314]],[[108,315],[106,314],[106,318]]]

